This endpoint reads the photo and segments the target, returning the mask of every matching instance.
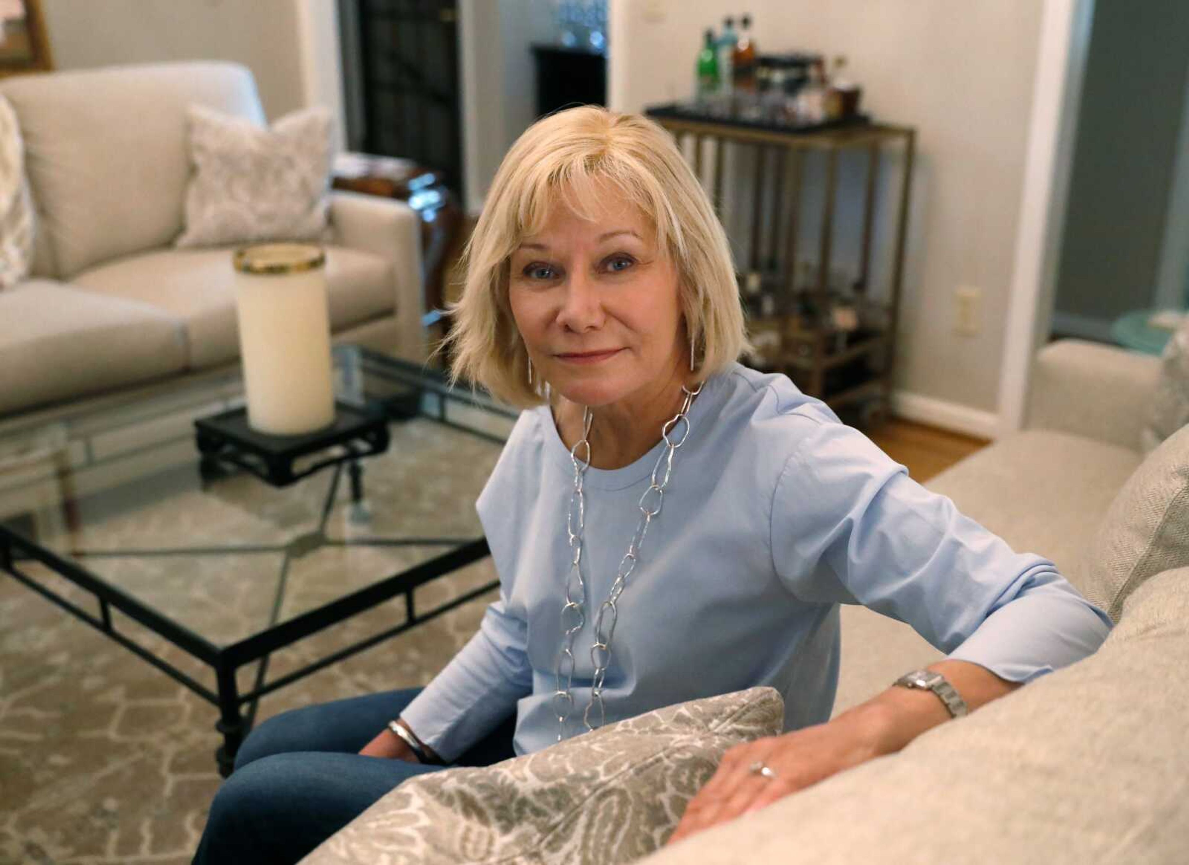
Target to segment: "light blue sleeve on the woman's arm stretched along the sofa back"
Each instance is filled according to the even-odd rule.
[[[1015,553],[826,411],[788,417],[800,441],[776,484],[770,531],[773,564],[798,598],[862,604],[1013,682],[1106,639],[1109,617],[1051,561]]]

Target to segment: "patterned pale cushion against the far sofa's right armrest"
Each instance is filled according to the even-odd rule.
[[[262,128],[195,105],[189,121],[194,175],[175,246],[323,238],[332,157],[327,108],[292,112]]]

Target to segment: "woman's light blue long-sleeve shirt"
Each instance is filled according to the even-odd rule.
[[[690,425],[617,604],[606,722],[760,684],[784,695],[786,730],[829,720],[839,604],[905,621],[948,657],[1013,682],[1106,639],[1111,619],[1052,562],[1013,551],[788,378],[735,364],[706,381]],[[586,471],[587,614],[574,638],[567,735],[585,730],[593,613],[663,447],[624,468]],[[499,600],[402,715],[447,760],[514,711],[517,753],[556,741],[572,487],[549,409],[523,412],[477,503]]]

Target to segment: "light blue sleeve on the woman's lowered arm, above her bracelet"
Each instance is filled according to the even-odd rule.
[[[491,604],[478,632],[401,716],[447,763],[516,711],[533,690],[526,623]]]

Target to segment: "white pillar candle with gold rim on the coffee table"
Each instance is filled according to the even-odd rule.
[[[247,422],[270,435],[300,435],[334,422],[326,255],[316,246],[238,250],[235,307]]]

